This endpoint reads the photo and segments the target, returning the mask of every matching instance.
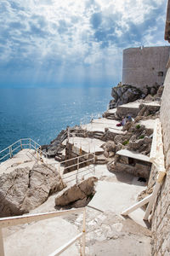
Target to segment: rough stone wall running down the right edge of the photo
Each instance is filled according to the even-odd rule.
[[[152,217],[152,255],[170,255],[170,67],[161,97],[161,124],[167,177],[161,186]]]

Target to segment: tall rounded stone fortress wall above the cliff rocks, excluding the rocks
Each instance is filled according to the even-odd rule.
[[[169,46],[124,49],[122,84],[130,84],[140,90],[146,85],[163,84],[169,50]]]

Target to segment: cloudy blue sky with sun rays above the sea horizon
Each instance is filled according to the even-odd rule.
[[[1,0],[0,88],[110,86],[122,50],[168,45],[167,0]]]

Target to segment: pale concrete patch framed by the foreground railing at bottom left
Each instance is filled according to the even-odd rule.
[[[74,224],[59,217],[25,224],[20,230],[5,237],[5,256],[47,256],[78,233]],[[74,244],[62,255],[80,254]]]

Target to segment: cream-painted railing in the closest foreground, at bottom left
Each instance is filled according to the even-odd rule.
[[[57,256],[61,253],[65,252],[68,247],[71,247],[77,240],[82,238],[82,256],[85,256],[85,238],[86,238],[86,208],[77,208],[59,212],[45,212],[45,213],[37,213],[37,214],[30,214],[25,216],[15,216],[15,217],[8,217],[8,218],[0,218],[0,255],[5,256],[4,247],[3,247],[3,228],[7,228],[9,226],[14,226],[18,224],[28,224],[33,221],[40,221],[48,218],[55,218],[59,216],[68,215],[71,213],[83,212],[83,219],[82,219],[82,232],[80,232],[77,236],[73,237],[70,241],[66,242],[63,246],[59,247],[54,251],[54,253],[50,253],[48,256]]]

